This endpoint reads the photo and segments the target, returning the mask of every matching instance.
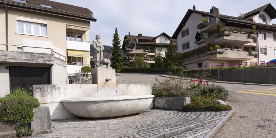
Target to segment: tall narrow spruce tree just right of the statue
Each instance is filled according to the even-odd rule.
[[[113,34],[112,45],[112,57],[111,57],[111,67],[115,70],[120,69],[122,66],[122,58],[121,58],[121,40],[118,35],[117,27],[115,28],[115,33]]]

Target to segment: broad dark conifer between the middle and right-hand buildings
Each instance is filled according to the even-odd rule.
[[[177,47],[174,45],[173,41],[170,40],[170,44],[165,50],[164,63],[166,67],[170,65],[181,66],[181,55],[177,52]]]

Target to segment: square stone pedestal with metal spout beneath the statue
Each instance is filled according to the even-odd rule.
[[[116,96],[115,69],[95,67],[92,68],[91,75],[92,84],[98,84],[98,97]],[[109,79],[109,81],[106,81],[106,79]]]

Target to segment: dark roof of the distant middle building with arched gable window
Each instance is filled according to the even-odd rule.
[[[170,40],[173,40],[175,43],[177,43],[177,40],[171,39],[171,37],[169,35],[167,35],[166,33],[161,33],[160,35],[165,35]],[[158,35],[158,36],[160,36],[160,35]],[[156,36],[156,37],[154,37],[154,36],[139,37],[139,36],[133,36],[133,35],[125,35],[124,39],[130,38],[130,43],[132,43],[132,44],[148,45],[148,46],[169,46],[168,43],[155,43],[155,42],[152,42],[158,36]],[[138,42],[136,42],[136,39],[138,39]],[[124,49],[124,48],[125,48],[125,43],[123,43],[123,45],[122,45],[122,49]]]

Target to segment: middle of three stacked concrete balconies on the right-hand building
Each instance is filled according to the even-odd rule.
[[[248,37],[249,36],[249,37]],[[205,46],[207,44],[219,44],[224,45],[243,45],[255,42],[254,38],[250,38],[250,35],[244,32],[237,31],[224,31],[217,34],[209,35],[208,38],[205,39],[204,43],[199,44],[199,47]]]

